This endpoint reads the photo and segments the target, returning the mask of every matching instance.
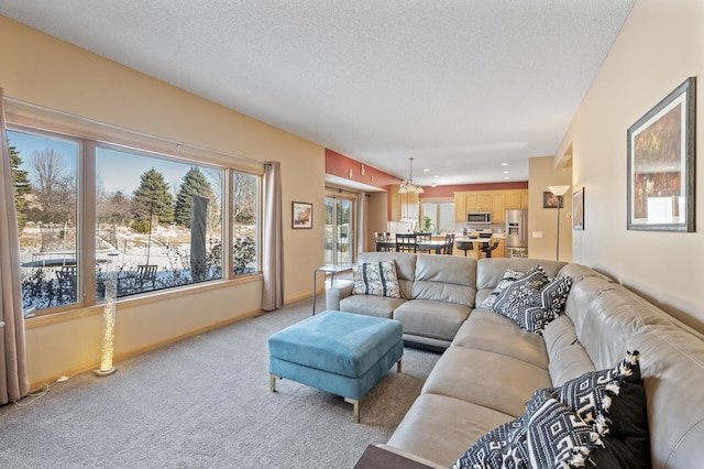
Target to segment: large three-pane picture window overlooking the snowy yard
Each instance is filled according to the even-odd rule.
[[[261,176],[20,128],[7,134],[25,314],[102,301],[109,253],[119,255],[119,297],[258,272]]]

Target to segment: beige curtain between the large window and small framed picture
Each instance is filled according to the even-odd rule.
[[[279,162],[264,164],[264,216],[262,219],[262,309],[284,306],[284,228]]]

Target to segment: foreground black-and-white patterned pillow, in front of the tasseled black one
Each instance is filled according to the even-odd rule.
[[[540,389],[524,415],[482,436],[452,468],[575,468],[598,443],[591,425]]]

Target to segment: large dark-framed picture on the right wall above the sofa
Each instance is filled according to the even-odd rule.
[[[628,137],[628,229],[694,231],[695,86],[688,78]]]

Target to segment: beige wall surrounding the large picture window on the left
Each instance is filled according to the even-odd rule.
[[[324,150],[0,17],[0,87],[9,98],[213,151],[282,162],[285,299],[309,295],[323,262]],[[314,203],[314,229],[292,230],[292,200]],[[116,355],[130,355],[258,310],[261,280],[185,296],[122,302]],[[26,321],[33,383],[95,367],[99,308]],[[118,364],[119,366],[119,364]]]

